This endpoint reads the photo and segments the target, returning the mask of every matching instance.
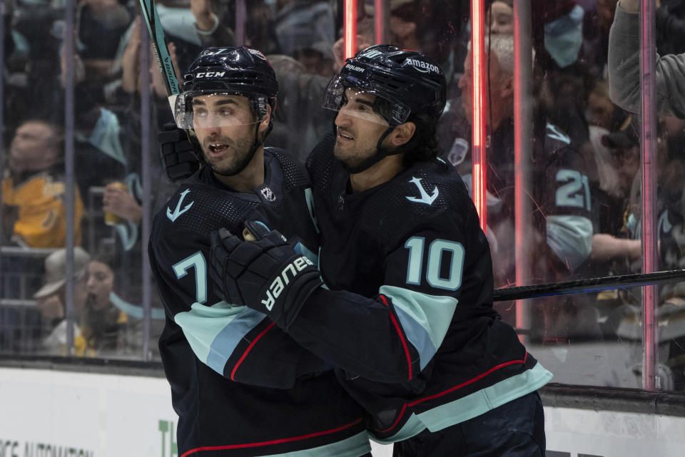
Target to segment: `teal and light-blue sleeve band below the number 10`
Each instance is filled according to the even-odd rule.
[[[402,329],[419,352],[420,368],[424,369],[445,339],[458,300],[395,286],[381,286],[379,293],[392,299]]]

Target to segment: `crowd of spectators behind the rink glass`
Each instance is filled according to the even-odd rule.
[[[539,175],[537,182],[548,182],[543,189],[530,190],[536,213],[532,216],[535,230],[530,234],[536,248],[527,265],[532,282],[640,269],[639,118],[609,97],[609,31],[617,3],[531,3],[535,139],[530,142],[529,158],[533,174]],[[659,3],[657,48],[661,53],[685,51],[685,41],[679,38],[685,18],[681,3]],[[342,66],[342,2],[159,0],[156,4],[178,76],[204,46],[245,43],[268,55],[280,93],[267,145],[305,160],[333,126],[320,100],[330,76]],[[468,182],[470,2],[388,0],[385,4],[386,41],[422,51],[441,63],[448,101],[439,126],[440,144],[445,159]],[[357,2],[358,48],[375,43],[374,5],[374,1]],[[76,281],[83,282],[76,288],[84,294],[87,291],[86,299],[76,297],[76,292],[73,298],[77,315],[73,322],[83,339],[80,353],[134,354],[141,346],[135,341],[138,317],[132,316],[141,304],[143,197],[151,200],[151,211],[156,212],[174,188],[166,180],[156,147],[156,133],[171,122],[171,112],[155,58],[150,59],[149,68],[141,68],[141,34],[146,30],[138,1],[77,1],[71,63],[63,46],[64,7],[64,1],[14,0],[5,9],[3,128],[8,147],[2,245],[48,248],[64,257],[60,248],[66,243],[66,201],[73,202],[75,254],[80,260],[88,256],[87,265],[75,268],[78,278],[83,278]],[[485,21],[490,106],[487,155],[496,158],[487,170],[492,215],[488,236],[497,266],[495,286],[505,287],[515,282],[512,0],[487,1]],[[67,66],[73,68],[76,93],[73,186],[64,176]],[[149,78],[141,80],[146,71]],[[148,134],[152,147],[141,151],[141,81],[145,79],[151,81]],[[685,264],[681,184],[685,129],[684,121],[673,114],[679,111],[659,118],[659,249],[664,269]],[[559,143],[557,149],[546,150],[545,142],[552,140]],[[141,181],[143,161],[151,167],[148,183]],[[566,165],[559,168],[561,174],[549,175],[551,163]],[[73,189],[73,195],[67,195],[68,189]],[[567,197],[565,203],[559,195]],[[581,214],[581,209],[587,214]],[[39,287],[43,275],[50,276],[49,259],[45,259],[45,270],[41,265],[38,272],[31,272],[34,279],[26,284]],[[55,261],[51,262],[54,268]],[[25,265],[36,267],[35,262]],[[685,302],[681,289],[677,284],[664,288],[663,301]],[[64,333],[66,328],[62,325],[64,304],[46,304],[46,300],[56,302],[59,292],[48,299],[34,294],[24,291],[19,298],[39,302],[44,326],[38,346],[46,347],[44,340],[62,342],[54,333],[56,329]],[[616,338],[625,315],[621,306],[638,302],[631,294],[618,292],[551,299],[540,307],[534,328],[527,330],[543,342]],[[499,308],[505,318],[512,318],[511,309],[511,304]],[[617,309],[624,314],[617,317]]]

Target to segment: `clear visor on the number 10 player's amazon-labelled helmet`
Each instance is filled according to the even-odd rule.
[[[323,107],[367,122],[381,125],[400,125],[409,117],[410,110],[377,96],[367,88],[344,87],[340,75],[330,80],[324,96]]]

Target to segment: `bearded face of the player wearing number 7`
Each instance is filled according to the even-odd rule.
[[[255,123],[247,97],[193,97],[193,130],[205,160],[222,175],[238,174],[252,160]]]

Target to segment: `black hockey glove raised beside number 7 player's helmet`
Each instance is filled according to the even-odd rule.
[[[177,128],[175,123],[166,123],[157,140],[166,175],[172,183],[188,178],[200,168],[195,145],[186,130]]]

